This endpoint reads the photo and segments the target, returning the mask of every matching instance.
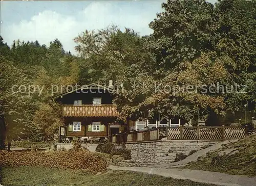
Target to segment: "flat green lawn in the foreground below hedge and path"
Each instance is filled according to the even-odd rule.
[[[3,185],[173,185],[209,186],[190,180],[167,178],[131,171],[110,171],[92,175],[83,170],[62,170],[41,167],[2,168]]]

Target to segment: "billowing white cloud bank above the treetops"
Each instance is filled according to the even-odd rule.
[[[159,3],[159,8],[160,8]],[[13,40],[35,41],[41,44],[49,44],[58,38],[65,50],[71,50],[74,54],[75,43],[73,39],[82,31],[98,30],[106,28],[109,24],[116,24],[119,28],[134,29],[141,35],[148,35],[152,30],[148,28],[156,17],[156,13],[148,12],[147,9],[133,12],[126,7],[117,6],[109,2],[93,2],[76,16],[59,14],[54,11],[43,11],[23,20],[19,23],[6,25],[3,37],[10,45]]]

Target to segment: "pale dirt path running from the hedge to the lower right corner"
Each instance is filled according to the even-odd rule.
[[[229,175],[219,172],[208,172],[200,170],[186,170],[186,169],[166,169],[153,167],[118,167],[110,166],[112,170],[129,170],[136,172],[145,172],[149,174],[157,174],[165,177],[172,177],[176,179],[189,179],[202,183],[212,183],[227,186],[253,186],[256,185],[256,177]]]

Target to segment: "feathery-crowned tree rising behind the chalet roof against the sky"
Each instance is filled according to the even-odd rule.
[[[76,50],[84,58],[81,81],[114,82],[127,67],[143,63],[148,72],[153,70],[151,54],[144,50],[144,39],[131,29],[122,32],[117,26],[85,31],[76,37]],[[84,79],[84,80],[83,80]]]

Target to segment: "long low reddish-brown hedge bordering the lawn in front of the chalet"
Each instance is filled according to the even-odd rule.
[[[0,167],[37,166],[50,168],[87,169],[105,171],[106,159],[87,150],[78,151],[0,151]]]

